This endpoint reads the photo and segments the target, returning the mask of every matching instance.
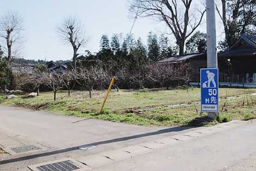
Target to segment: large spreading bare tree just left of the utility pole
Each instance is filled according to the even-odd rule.
[[[139,17],[155,17],[164,21],[172,31],[179,46],[179,54],[184,54],[186,39],[203,20],[206,10],[191,15],[194,0],[132,0],[130,11]],[[196,17],[199,16],[199,17]]]

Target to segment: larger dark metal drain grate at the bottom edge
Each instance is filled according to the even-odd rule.
[[[75,166],[74,163],[70,160],[46,164],[43,166],[36,167],[36,169],[41,171],[70,171],[70,170],[77,170],[80,169],[79,167]]]

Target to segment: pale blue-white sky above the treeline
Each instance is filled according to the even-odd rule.
[[[194,0],[202,1],[202,0]],[[133,19],[129,17],[129,0],[1,0],[1,15],[8,11],[18,12],[23,18],[22,56],[25,59],[69,60],[72,56],[70,45],[63,44],[57,36],[56,27],[69,15],[76,15],[86,28],[89,43],[80,50],[99,50],[103,34],[130,32]],[[218,18],[217,18],[218,19]],[[205,32],[205,24],[199,30]],[[161,34],[169,31],[164,23],[151,18],[137,20],[133,28],[136,39],[142,37],[146,43],[149,31]],[[223,35],[220,20],[217,20],[218,39]],[[175,43],[174,39],[172,39]],[[3,40],[1,45],[4,45]]]

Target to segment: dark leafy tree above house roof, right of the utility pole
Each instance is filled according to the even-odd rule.
[[[222,9],[216,5],[225,32],[226,49],[235,44],[242,34],[250,33],[256,26],[255,0],[221,0]]]

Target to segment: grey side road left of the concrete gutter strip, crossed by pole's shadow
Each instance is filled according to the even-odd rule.
[[[92,155],[194,129],[113,123],[3,105],[0,118],[0,145],[11,154],[0,155],[1,171],[29,170],[27,166],[31,164]],[[36,145],[42,150],[19,154],[11,150],[25,145]],[[96,145],[96,148],[78,150],[81,145]]]

